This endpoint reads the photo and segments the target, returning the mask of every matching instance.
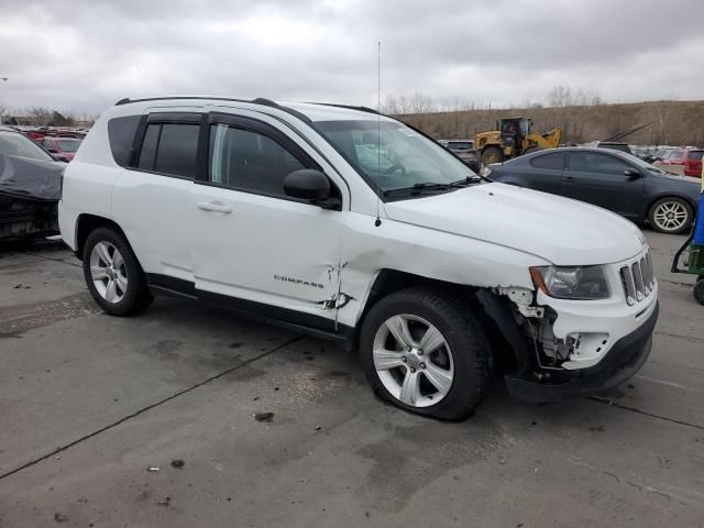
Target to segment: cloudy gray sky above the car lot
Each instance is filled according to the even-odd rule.
[[[0,0],[0,105],[125,96],[376,103],[704,98],[702,0]]]

